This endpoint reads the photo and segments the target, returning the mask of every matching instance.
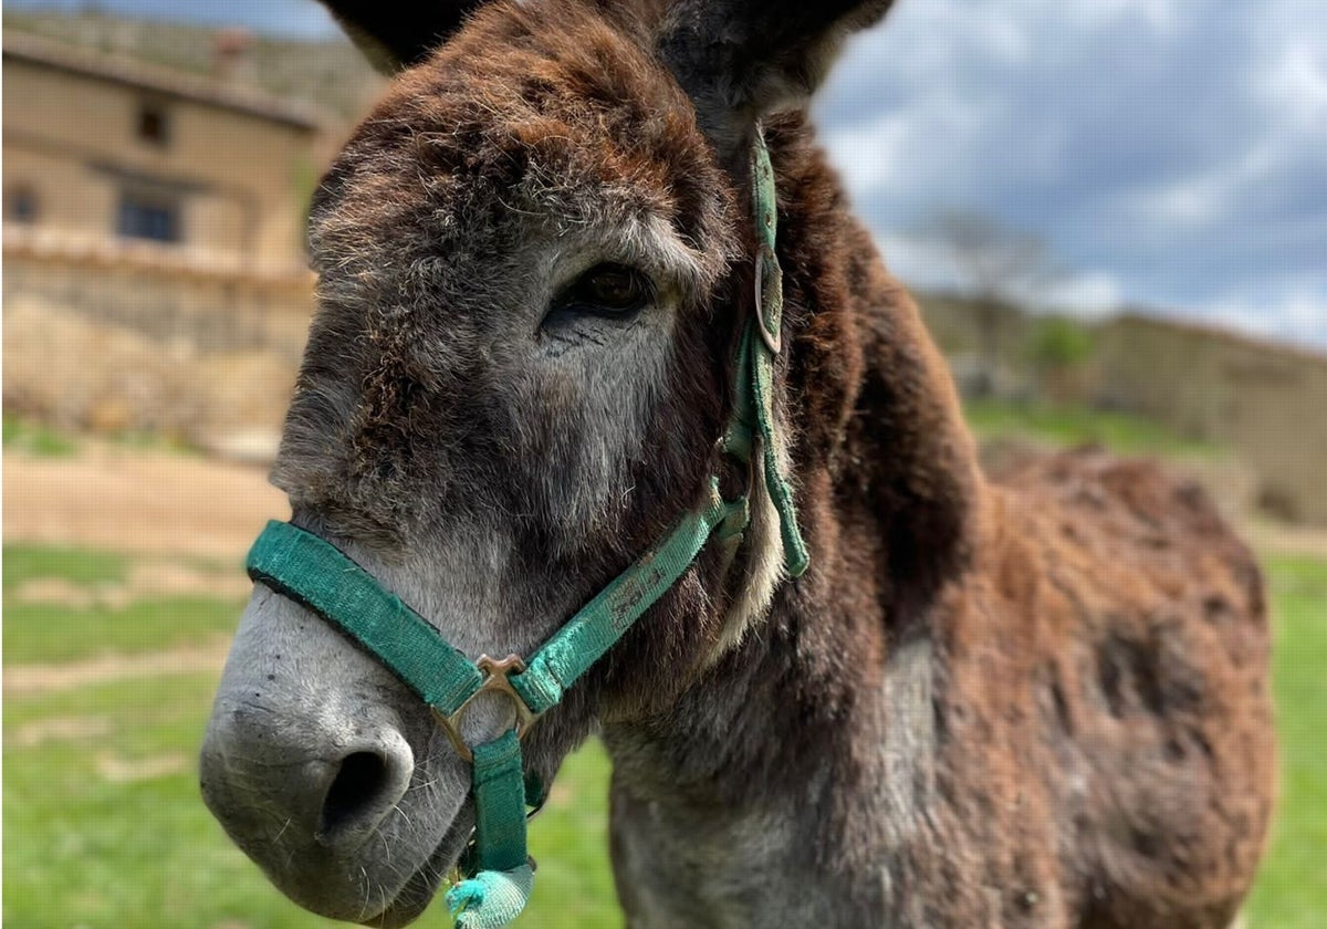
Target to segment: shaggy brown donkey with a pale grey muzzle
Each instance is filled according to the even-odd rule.
[[[1231,924],[1274,792],[1259,571],[1154,466],[982,472],[804,111],[889,0],[329,5],[397,76],[311,212],[292,523],[468,662],[532,654],[711,476],[750,507],[522,743],[547,784],[602,738],[628,925]],[[783,315],[743,459],[762,146]],[[519,702],[482,691],[459,745]],[[419,916],[476,820],[419,695],[267,583],[200,778],[283,892],[365,925]]]

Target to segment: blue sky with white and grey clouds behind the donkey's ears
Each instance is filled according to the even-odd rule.
[[[334,33],[312,0],[100,5]],[[817,113],[905,280],[962,283],[928,223],[981,214],[1046,244],[1048,304],[1327,349],[1323,0],[900,0]]]

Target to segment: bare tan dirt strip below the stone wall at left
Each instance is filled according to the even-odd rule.
[[[4,539],[238,561],[285,495],[260,467],[90,445],[4,455]]]

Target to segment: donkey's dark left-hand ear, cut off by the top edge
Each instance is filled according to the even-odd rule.
[[[419,64],[482,0],[322,0],[373,66],[387,74]]]

